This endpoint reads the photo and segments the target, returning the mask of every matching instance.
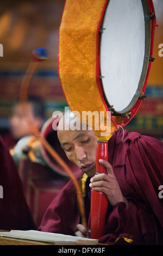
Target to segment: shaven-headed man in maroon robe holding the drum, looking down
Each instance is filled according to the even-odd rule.
[[[96,172],[97,139],[92,131],[58,131],[59,141],[85,182],[85,211],[90,228],[90,189],[109,200],[105,231],[100,243],[109,245],[163,245],[163,143],[139,133],[118,130],[109,140],[109,159],[101,162],[108,174]],[[94,176],[95,175],[95,176]],[[77,194],[70,181],[54,198],[40,231],[89,237],[80,224]]]

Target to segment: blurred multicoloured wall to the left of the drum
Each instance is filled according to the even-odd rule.
[[[29,94],[45,100],[46,117],[66,105],[58,78],[58,32],[64,0],[3,1],[0,5],[0,129],[8,127],[12,103],[17,100],[32,51],[46,47],[49,58],[39,63]]]

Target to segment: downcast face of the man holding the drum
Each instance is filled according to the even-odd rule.
[[[58,138],[68,159],[87,176],[95,175],[97,138],[93,132],[62,130],[58,131]]]

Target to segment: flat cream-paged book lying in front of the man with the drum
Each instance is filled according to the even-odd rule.
[[[36,230],[0,232],[0,245],[97,245],[98,240]]]

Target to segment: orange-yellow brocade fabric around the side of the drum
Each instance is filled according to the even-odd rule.
[[[96,81],[97,68],[97,29],[101,20],[105,0],[67,0],[62,15],[59,32],[59,77],[68,105],[71,110],[106,113]],[[96,119],[96,118],[95,118]],[[98,118],[97,118],[98,120]],[[120,124],[122,118],[114,118]],[[96,125],[96,124],[95,124]],[[100,138],[105,125],[94,129]],[[116,130],[111,123],[111,133]],[[106,134],[109,136],[109,134]]]

